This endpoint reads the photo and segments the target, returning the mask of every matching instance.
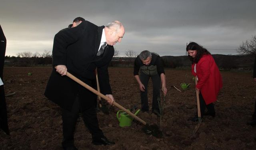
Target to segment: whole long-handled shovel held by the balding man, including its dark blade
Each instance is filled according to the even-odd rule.
[[[75,82],[77,82],[78,84],[80,84],[81,86],[84,86],[86,89],[90,90],[91,92],[93,92],[94,94],[100,96],[101,98],[105,99],[105,100],[110,100],[110,98],[108,98],[107,96],[101,94],[100,92],[98,92],[97,90],[95,90],[94,88],[88,86],[86,83],[82,82],[81,80],[79,80],[78,78],[76,78],[75,76],[73,76],[72,74],[70,74],[69,72],[67,72],[66,76],[68,76],[69,78],[71,78],[72,80],[74,80]],[[147,124],[144,120],[140,119],[139,117],[137,117],[136,115],[132,114],[132,112],[130,112],[129,110],[127,110],[126,108],[124,108],[123,106],[121,106],[120,104],[118,104],[117,102],[113,102],[113,105],[116,106],[117,108],[123,110],[124,112],[126,112],[127,114],[129,114],[130,116],[132,116],[134,119],[138,120],[139,122],[141,122],[142,124],[144,124],[144,128],[143,131],[146,134],[152,134],[153,136],[155,136],[156,138],[161,138],[162,137],[162,132],[159,130],[157,125],[149,125]]]

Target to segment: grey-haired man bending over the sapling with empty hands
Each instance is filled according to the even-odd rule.
[[[139,73],[140,72],[140,73]],[[153,83],[153,99],[152,112],[157,116],[160,115],[158,97],[160,97],[160,89],[162,83],[162,91],[164,96],[167,93],[166,78],[164,66],[160,56],[151,53],[148,50],[142,51],[134,62],[134,77],[140,86],[141,110],[148,112],[148,80],[152,79]]]

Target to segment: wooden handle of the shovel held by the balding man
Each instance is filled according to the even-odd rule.
[[[76,81],[78,84],[80,84],[81,86],[84,86],[86,89],[90,90],[91,92],[93,92],[94,94],[100,96],[101,98],[105,99],[105,100],[110,100],[110,98],[108,98],[107,96],[101,94],[100,92],[98,92],[97,90],[95,90],[94,88],[88,86],[86,83],[82,82],[81,80],[79,80],[78,78],[76,78],[75,76],[73,76],[72,74],[70,74],[69,72],[67,72],[66,76],[68,76],[69,78],[71,78],[72,80]],[[130,116],[132,116],[134,119],[138,120],[139,122],[141,122],[142,124],[146,125],[147,123],[140,119],[139,117],[137,117],[136,115],[132,114],[132,112],[130,112],[129,110],[127,110],[126,108],[124,108],[123,106],[121,106],[120,104],[118,104],[117,102],[113,102],[113,105],[116,106],[117,108],[123,110],[124,112],[126,112],[127,114],[129,114]]]

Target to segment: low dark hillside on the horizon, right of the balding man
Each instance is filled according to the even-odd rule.
[[[254,55],[212,55],[220,69],[251,70],[254,65]],[[164,66],[167,68],[190,68],[191,61],[188,56],[162,56]],[[135,58],[115,57],[110,66],[133,67]]]

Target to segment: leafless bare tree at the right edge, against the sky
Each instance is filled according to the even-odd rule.
[[[237,50],[239,54],[255,54],[256,53],[256,36],[252,36],[250,40],[246,40],[240,44]]]

